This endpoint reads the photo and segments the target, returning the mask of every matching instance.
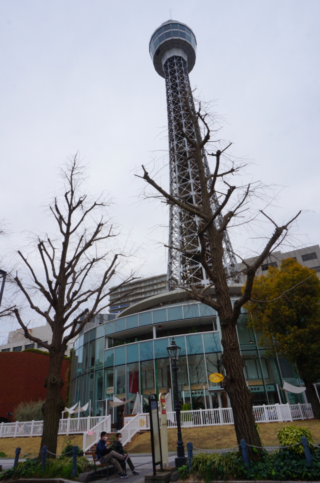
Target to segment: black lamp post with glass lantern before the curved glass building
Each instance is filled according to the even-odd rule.
[[[179,468],[186,464],[186,458],[184,456],[184,446],[181,434],[181,421],[180,421],[180,401],[178,396],[178,358],[180,355],[181,347],[178,347],[172,339],[171,345],[169,345],[166,350],[168,351],[170,361],[172,362],[172,373],[173,373],[173,386],[174,386],[174,399],[175,399],[175,415],[176,415],[176,427],[177,427],[177,442],[176,442],[176,455],[175,466]]]

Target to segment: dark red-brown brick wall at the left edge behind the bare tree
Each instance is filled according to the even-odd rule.
[[[63,359],[61,377],[64,381],[61,396],[65,398],[65,374],[69,362]],[[45,399],[44,379],[49,371],[49,356],[35,352],[0,352],[0,417],[13,421],[13,412],[19,402]]]

